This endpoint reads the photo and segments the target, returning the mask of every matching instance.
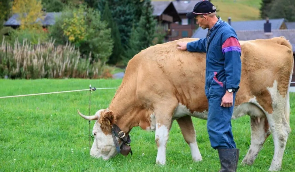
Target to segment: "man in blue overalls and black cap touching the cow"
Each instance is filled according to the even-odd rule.
[[[235,30],[216,17],[216,7],[209,1],[200,1],[189,19],[203,29],[208,36],[194,42],[177,42],[177,48],[190,52],[205,52],[205,94],[209,103],[207,130],[212,148],[218,150],[220,171],[236,171],[239,149],[232,135],[231,117],[241,76],[241,49]]]

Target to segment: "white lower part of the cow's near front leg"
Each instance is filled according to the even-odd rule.
[[[155,141],[158,145],[156,163],[164,165],[166,163],[166,143],[168,141],[168,128],[157,123]]]

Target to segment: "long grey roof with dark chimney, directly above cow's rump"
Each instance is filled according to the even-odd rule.
[[[240,30],[236,31],[239,40],[269,39],[283,36],[292,44],[293,53],[295,53],[295,29],[277,29],[272,30],[271,35],[265,34],[264,30]]]

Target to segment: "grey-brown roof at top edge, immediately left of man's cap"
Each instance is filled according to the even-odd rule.
[[[172,2],[179,14],[186,14],[191,12],[199,1],[201,0],[175,0]]]

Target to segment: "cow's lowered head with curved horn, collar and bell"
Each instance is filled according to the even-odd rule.
[[[91,156],[108,160],[118,153],[125,156],[129,154],[130,137],[115,125],[116,117],[112,111],[101,109],[93,116],[85,116],[78,109],[78,114],[84,119],[96,120],[92,129],[94,142],[90,150]]]

